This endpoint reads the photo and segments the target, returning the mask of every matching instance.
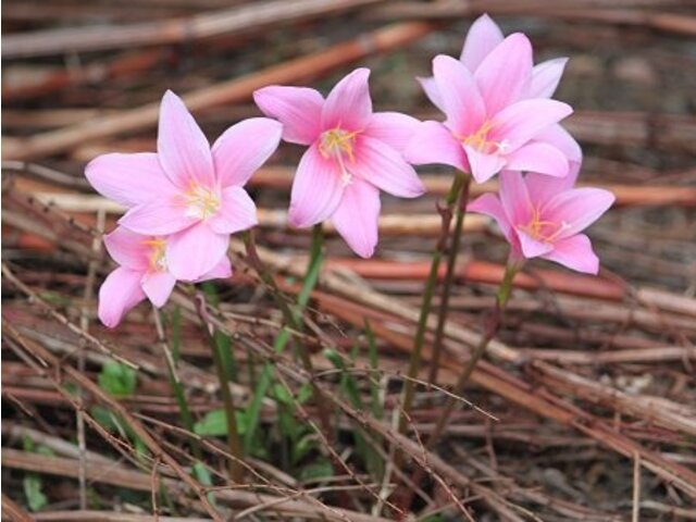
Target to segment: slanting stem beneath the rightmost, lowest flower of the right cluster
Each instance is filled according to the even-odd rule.
[[[455,411],[455,407],[459,405],[458,397],[460,397],[467,383],[469,382],[469,377],[476,368],[476,363],[483,357],[488,347],[490,340],[495,337],[500,327],[500,323],[502,321],[502,316],[505,313],[505,308],[510,298],[510,293],[512,291],[512,281],[514,279],[515,274],[519,272],[521,268],[521,263],[517,261],[508,261],[508,265],[506,266],[505,275],[502,276],[502,281],[500,282],[500,286],[498,287],[498,294],[496,297],[496,306],[493,309],[493,313],[486,321],[486,326],[484,330],[484,334],[481,337],[481,340],[476,345],[476,347],[472,350],[471,357],[469,361],[467,361],[467,365],[462,369],[462,372],[459,374],[459,378],[457,380],[457,384],[455,384],[455,388],[452,389],[451,395],[447,397],[447,401],[445,406],[437,417],[437,423],[435,427],[431,432],[431,435],[425,443],[425,450],[428,451],[435,447],[439,437],[443,435],[447,426],[449,425],[449,420]],[[423,468],[418,468],[418,470],[411,476],[411,483],[420,484],[425,475],[425,470]],[[411,505],[413,500],[413,490],[407,490],[406,495],[402,499],[401,507],[406,510]]]

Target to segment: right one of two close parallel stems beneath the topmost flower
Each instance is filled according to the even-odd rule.
[[[471,187],[471,175],[464,174],[464,182],[459,195],[459,204],[457,204],[457,216],[455,219],[455,229],[452,232],[452,244],[449,247],[447,257],[447,271],[443,281],[443,294],[440,297],[439,309],[437,311],[437,328],[435,331],[435,341],[433,344],[433,358],[431,359],[431,371],[427,382],[437,384],[437,372],[439,371],[439,360],[443,352],[443,340],[445,337],[445,325],[447,324],[447,314],[449,313],[449,297],[455,283],[455,271],[457,269],[457,257],[461,245],[462,229],[464,225],[464,215],[467,214],[467,204],[469,203],[469,188]]]

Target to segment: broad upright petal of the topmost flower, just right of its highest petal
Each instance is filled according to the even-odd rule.
[[[532,44],[522,33],[508,36],[481,62],[474,77],[489,116],[529,91],[532,66]]]

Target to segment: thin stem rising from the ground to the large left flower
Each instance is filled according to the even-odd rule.
[[[202,291],[197,293],[198,298],[198,314],[201,320],[201,324],[208,336],[210,348],[213,352],[213,362],[215,363],[215,370],[217,371],[217,380],[220,381],[220,395],[225,408],[225,418],[227,420],[227,446],[229,453],[234,459],[229,459],[229,476],[237,483],[241,484],[244,480],[244,452],[241,449],[241,438],[239,437],[239,428],[237,426],[237,415],[234,402],[234,397],[229,390],[229,382],[232,375],[229,374],[229,366],[225,364],[225,355],[222,352],[223,347],[217,343],[215,338],[215,328],[208,320],[208,310],[206,304],[206,296]]]

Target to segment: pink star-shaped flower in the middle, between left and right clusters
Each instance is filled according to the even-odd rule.
[[[283,123],[286,141],[309,146],[293,183],[289,220],[308,227],[331,219],[363,258],[377,244],[380,190],[402,198],[425,191],[401,152],[419,122],[372,112],[370,71],[358,69],[326,99],[314,89],[270,86],[254,92],[261,111]]]

